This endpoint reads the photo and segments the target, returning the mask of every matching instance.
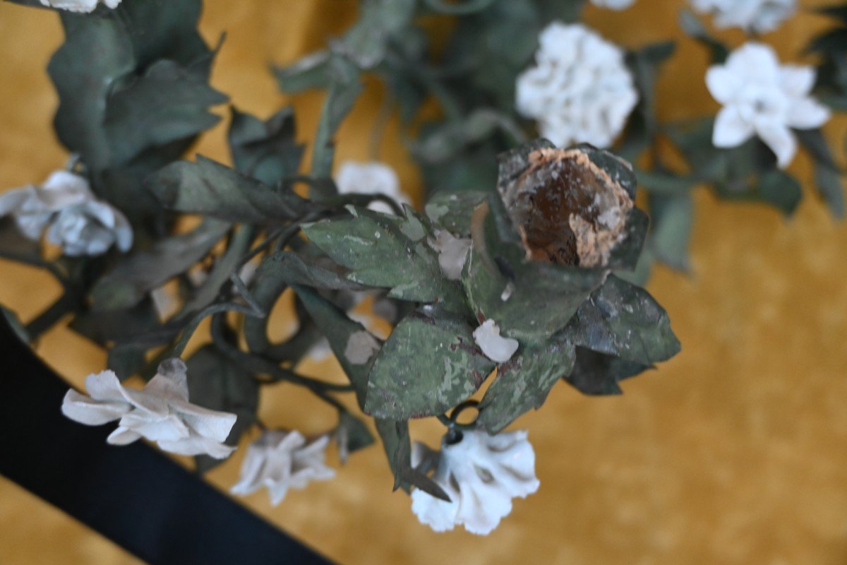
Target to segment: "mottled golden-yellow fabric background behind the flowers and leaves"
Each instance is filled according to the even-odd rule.
[[[208,39],[228,33],[214,85],[263,116],[286,102],[268,63],[319,47],[355,14],[352,0],[207,4]],[[639,0],[623,13],[590,8],[588,20],[606,37],[637,46],[679,36],[682,4]],[[764,39],[783,60],[797,61],[800,47],[825,25],[802,14]],[[743,39],[722,36],[734,45]],[[56,99],[43,72],[59,41],[53,14],[0,3],[0,186],[42,180],[64,163],[50,128]],[[716,108],[705,69],[703,50],[683,40],[660,83],[666,118]],[[305,140],[320,99],[293,102]],[[378,107],[379,89],[369,85],[341,131],[340,158],[368,157],[368,124]],[[828,126],[836,147],[845,125],[837,119]],[[214,130],[200,151],[225,159],[223,134],[223,126]],[[392,125],[381,157],[414,191],[414,169],[395,139]],[[650,282],[683,352],[628,381],[623,396],[588,398],[560,385],[542,412],[524,417],[519,425],[530,430],[541,488],[516,501],[490,537],[461,529],[436,535],[419,525],[408,498],[390,492],[379,448],[352,457],[335,480],[291,492],[280,507],[270,507],[264,493],[246,504],[345,563],[847,562],[847,224],[833,222],[812,194],[805,157],[794,167],[806,194],[789,221],[697,192],[693,274],[659,269]],[[25,319],[57,291],[36,271],[0,264],[0,302]],[[77,384],[104,364],[102,352],[64,329],[46,335],[39,352]],[[331,411],[307,413],[304,399],[290,388],[271,391],[263,418],[307,433],[328,428]],[[418,428],[418,436],[436,440],[437,427]],[[25,423],[2,433],[25,434]],[[215,485],[235,480],[241,452],[232,459],[213,472]],[[0,562],[135,561],[0,479]]]

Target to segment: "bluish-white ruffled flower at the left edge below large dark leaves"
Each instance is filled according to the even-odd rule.
[[[123,213],[94,197],[88,181],[60,170],[41,186],[26,186],[0,195],[0,217],[11,215],[18,229],[38,241],[62,246],[70,256],[101,255],[116,245],[132,246],[132,227]]]

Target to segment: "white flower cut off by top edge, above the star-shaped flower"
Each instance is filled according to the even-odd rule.
[[[715,27],[752,33],[776,30],[797,11],[797,0],[691,0],[700,14],[712,14]]]

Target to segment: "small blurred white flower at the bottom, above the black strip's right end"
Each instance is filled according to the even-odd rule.
[[[267,431],[247,447],[241,477],[230,492],[246,496],[267,487],[276,506],[289,489],[304,489],[310,481],[335,477],[335,470],[324,464],[329,435],[310,444],[298,431]]]

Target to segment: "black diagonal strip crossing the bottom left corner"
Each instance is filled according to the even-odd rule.
[[[0,474],[149,563],[328,563],[152,447],[64,418],[68,385],[2,314],[0,347]]]

